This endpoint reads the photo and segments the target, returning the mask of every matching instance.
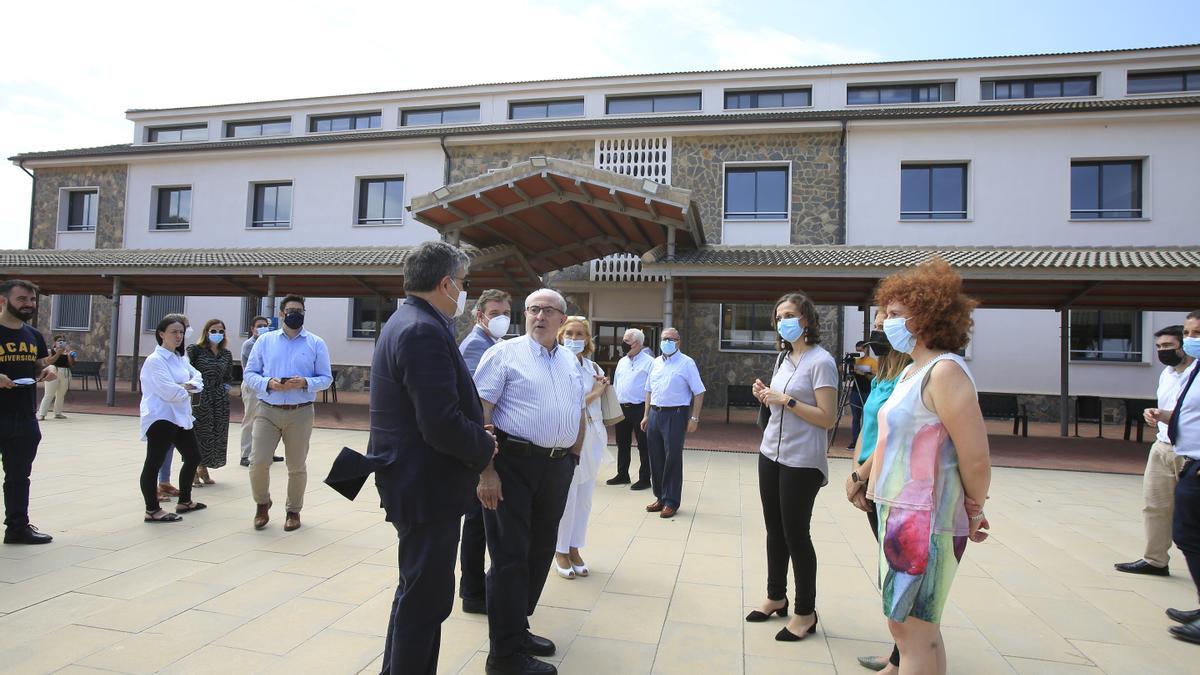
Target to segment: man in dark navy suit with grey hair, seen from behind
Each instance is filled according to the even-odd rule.
[[[454,607],[462,514],[497,446],[452,318],[467,298],[467,256],[426,241],[404,264],[401,306],[371,364],[367,456],[388,521],[400,537],[400,584],[388,622],[384,673],[437,671],[442,622]]]

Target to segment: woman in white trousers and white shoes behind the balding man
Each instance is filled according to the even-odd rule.
[[[575,466],[571,490],[566,495],[563,518],[558,522],[558,545],[554,549],[554,572],[563,579],[575,579],[587,577],[589,573],[580,549],[583,548],[588,532],[596,473],[600,471],[604,449],[608,446],[608,430],[605,429],[600,406],[600,396],[608,387],[608,378],[600,366],[588,358],[595,350],[588,319],[582,316],[566,317],[566,323],[558,329],[558,341],[578,359],[580,387],[583,389],[583,407],[587,412],[587,430],[583,447],[580,449],[580,464]]]

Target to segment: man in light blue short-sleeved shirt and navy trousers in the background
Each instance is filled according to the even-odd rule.
[[[679,331],[667,328],[646,380],[642,429],[650,447],[650,486],[655,500],[646,507],[659,518],[672,518],[683,496],[683,438],[700,425],[704,383],[691,357],[679,351]]]

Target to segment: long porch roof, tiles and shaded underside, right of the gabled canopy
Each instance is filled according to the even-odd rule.
[[[644,273],[671,274],[691,301],[769,303],[800,289],[815,303],[866,307],[883,277],[941,256],[988,309],[1200,307],[1200,247],[708,246]]]

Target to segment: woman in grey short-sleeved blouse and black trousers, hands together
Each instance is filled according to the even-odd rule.
[[[787,616],[787,563],[796,577],[796,607],[779,641],[796,641],[817,627],[817,554],[809,536],[812,504],[829,467],[828,429],[838,406],[838,364],[821,348],[817,310],[803,293],[775,303],[779,357],[770,386],[755,380],[755,396],[770,407],[758,448],[758,496],[767,524],[767,602],[746,615],[760,622]]]

